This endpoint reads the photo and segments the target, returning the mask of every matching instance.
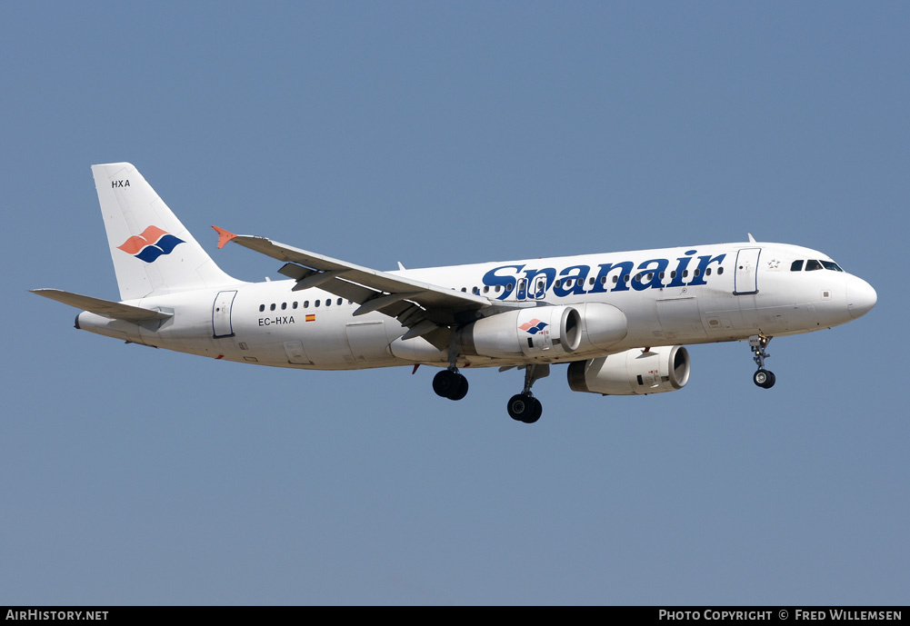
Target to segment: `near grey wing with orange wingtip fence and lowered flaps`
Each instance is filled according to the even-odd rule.
[[[449,345],[450,330],[446,327],[458,324],[466,313],[493,306],[490,298],[363,268],[266,237],[234,235],[223,228],[213,228],[219,236],[218,247],[233,241],[285,261],[278,273],[297,281],[294,291],[319,287],[340,298],[357,302],[360,307],[354,311],[355,316],[379,311],[398,318],[403,326],[409,328],[404,338],[423,336],[440,349]]]

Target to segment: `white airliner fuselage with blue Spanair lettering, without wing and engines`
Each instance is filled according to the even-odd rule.
[[[794,270],[794,261],[804,260]],[[825,267],[807,270],[808,261]],[[832,266],[834,268],[832,268]],[[527,307],[602,303],[622,311],[624,338],[609,349],[582,342],[571,354],[482,357],[458,351],[459,367],[555,363],[631,348],[780,336],[844,324],[875,304],[875,291],[804,247],[738,243],[552,257],[391,272],[490,301]],[[126,301],[173,313],[163,323],[84,312],[78,328],[211,358],[301,369],[447,365],[450,351],[379,312],[294,280],[238,282]],[[458,348],[456,346],[456,348]]]

